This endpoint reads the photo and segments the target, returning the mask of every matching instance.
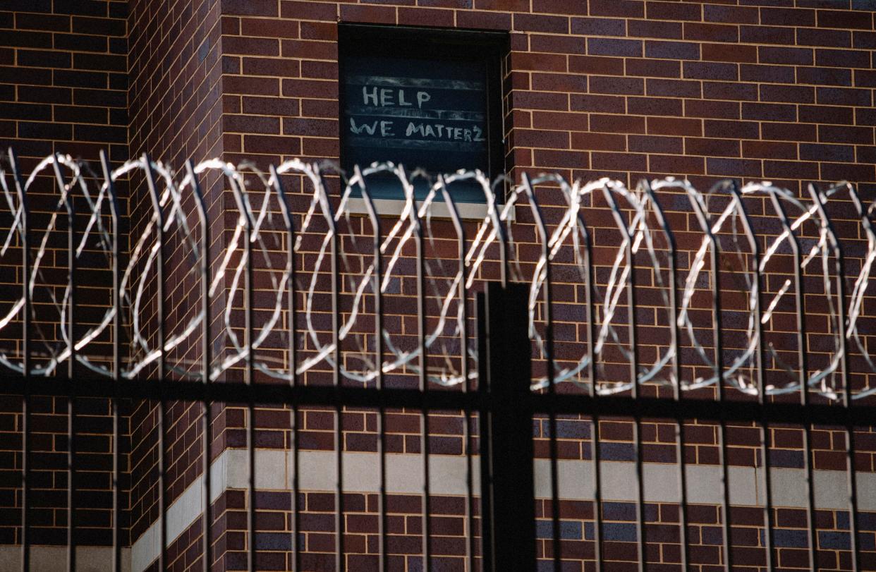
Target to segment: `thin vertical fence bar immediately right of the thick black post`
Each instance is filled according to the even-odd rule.
[[[533,211],[535,226],[539,230],[541,259],[544,261],[544,305],[545,305],[545,362],[547,363],[546,373],[548,377],[548,395],[551,397],[550,406],[548,407],[548,446],[550,455],[550,490],[551,490],[551,537],[552,537],[552,552],[554,561],[554,571],[560,572],[562,569],[562,534],[560,532],[560,478],[557,468],[557,444],[556,444],[556,412],[554,402],[556,399],[556,386],[554,384],[554,314],[552,311],[553,294],[551,292],[550,281],[550,252],[548,247],[548,228],[545,226],[544,217],[541,215],[539,203],[535,201],[535,193],[533,192],[532,181],[529,180],[528,173],[523,173],[523,189],[526,192],[526,198],[529,200],[529,206]],[[538,266],[536,266],[538,272]],[[538,281],[539,277],[534,276],[533,280]],[[528,302],[526,310],[528,312]],[[528,320],[528,319],[527,319]],[[530,420],[530,423],[532,421]]]

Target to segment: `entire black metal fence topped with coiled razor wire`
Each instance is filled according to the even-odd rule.
[[[568,414],[591,426],[585,444],[595,509],[593,552],[586,560],[597,569],[606,560],[599,446],[599,420],[605,418],[632,423],[639,569],[647,567],[649,542],[643,420],[675,427],[676,564],[682,569],[694,564],[685,421],[717,424],[724,516],[716,564],[728,570],[734,551],[727,425],[759,429],[768,569],[778,566],[770,428],[799,427],[806,548],[815,569],[811,434],[820,425],[840,427],[846,470],[830,486],[848,498],[850,568],[866,568],[854,455],[862,450],[856,434],[872,432],[876,413],[876,366],[868,353],[868,335],[876,330],[866,312],[876,235],[874,208],[851,185],[809,186],[801,198],[768,182],[740,187],[727,180],[700,192],[687,180],[643,180],[628,188],[618,180],[570,182],[555,174],[524,174],[519,181],[477,172],[429,178],[392,164],[357,168],[349,177],[299,160],[265,172],[218,159],[189,162],[181,173],[148,157],[115,169],[102,157],[101,167],[95,173],[58,154],[33,166],[25,179],[10,151],[0,173],[0,264],[18,269],[18,293],[0,308],[0,332],[6,329],[4,340],[11,341],[4,341],[0,364],[4,393],[21,396],[22,404],[18,540],[24,569],[32,568],[30,404],[38,395],[67,399],[71,569],[79,508],[74,475],[81,469],[75,404],[84,397],[112,403],[115,569],[121,569],[125,544],[120,515],[128,508],[118,446],[118,403],[124,399],[158,404],[159,569],[168,565],[173,540],[165,518],[166,404],[178,400],[201,404],[204,499],[211,491],[210,404],[246,406],[250,498],[259,469],[252,421],[257,404],[291,409],[294,539],[300,530],[296,412],[334,408],[336,569],[346,566],[344,408],[378,413],[380,568],[389,568],[387,409],[420,412],[424,568],[432,563],[434,536],[429,413],[462,412],[466,420],[469,569],[534,569],[537,559],[561,568],[556,423]],[[378,212],[369,194],[372,181],[398,187],[397,214]],[[138,201],[136,190],[120,197],[119,185],[139,189],[148,201]],[[477,207],[481,218],[466,221],[454,189],[471,185],[483,189],[484,205]],[[129,208],[121,206],[124,199]],[[837,223],[843,225],[839,236]],[[83,289],[88,296],[102,294],[85,300]],[[81,316],[85,304],[90,314]],[[815,328],[809,326],[813,318]],[[533,419],[542,416],[553,508],[550,549],[537,554]],[[201,530],[208,533],[201,534],[201,554],[207,555],[201,561],[207,569],[215,560],[215,515],[206,500],[203,505]],[[255,502],[247,512],[246,568],[255,569]],[[305,569],[297,540],[292,547],[293,569]]]

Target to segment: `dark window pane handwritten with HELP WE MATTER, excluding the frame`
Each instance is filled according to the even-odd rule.
[[[489,172],[483,63],[350,56],[342,72],[344,166]]]

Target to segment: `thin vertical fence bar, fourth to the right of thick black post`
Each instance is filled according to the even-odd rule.
[[[675,378],[673,385],[672,397],[675,403],[682,402],[682,364],[679,354],[679,335],[678,335],[678,251],[675,244],[675,235],[666,221],[666,216],[663,214],[663,208],[660,201],[657,200],[657,194],[647,180],[642,181],[642,186],[648,199],[653,205],[654,215],[657,217],[657,222],[661,226],[663,235],[666,237],[669,261],[668,286],[669,286],[669,347],[672,352],[672,375]],[[684,420],[681,415],[675,418],[675,457],[678,459],[678,519],[679,519],[679,540],[682,545],[681,561],[682,570],[688,569],[690,560],[690,543],[688,540],[688,476],[684,462]]]

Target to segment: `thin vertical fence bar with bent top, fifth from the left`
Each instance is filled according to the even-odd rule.
[[[201,514],[201,552],[203,553],[204,572],[213,566],[213,510],[212,483],[210,476],[210,444],[213,434],[213,420],[210,412],[210,367],[213,361],[212,340],[210,340],[210,223],[207,217],[207,205],[201,192],[201,183],[191,159],[186,161],[186,173],[192,181],[192,194],[198,210],[198,223],[201,227],[201,240],[198,242],[198,258],[201,271],[201,384],[204,385],[204,400],[201,402],[201,472],[203,483],[201,489],[201,504],[204,512]]]

